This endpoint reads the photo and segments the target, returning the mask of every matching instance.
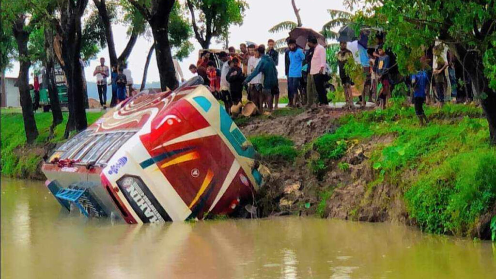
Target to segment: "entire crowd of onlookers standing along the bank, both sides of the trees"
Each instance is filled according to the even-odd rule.
[[[382,38],[377,37],[377,39],[378,44],[373,48],[367,47],[368,38],[366,36],[361,35],[358,40],[358,49],[355,51],[358,52],[359,64],[365,80],[363,80],[363,90],[359,93],[357,105],[366,107],[368,98],[368,102],[375,103],[384,109],[391,97],[391,88],[395,83],[398,83],[398,80],[395,81],[397,78],[390,76],[391,69],[394,68],[394,65],[391,65],[394,57],[391,57],[384,50]],[[331,73],[327,65],[324,46],[312,36],[308,38],[305,49],[298,46],[297,42],[291,38],[288,38],[286,43],[284,58],[288,86],[288,107],[327,106],[327,88],[330,86],[328,81],[331,79]],[[229,114],[231,114],[231,108],[238,106],[242,101],[244,90],[247,92],[248,101],[256,106],[258,113],[262,114],[264,110],[270,112],[278,108],[280,93],[276,69],[279,64],[279,53],[274,46],[274,40],[269,39],[267,47],[263,44],[249,43],[247,45],[242,43],[239,51],[234,47],[230,47],[228,52],[205,50],[201,53],[196,65],[189,66],[189,70],[202,77],[204,85],[210,88],[217,99],[223,101]],[[348,49],[346,42],[340,42],[339,46],[336,59],[346,101],[345,108],[354,108],[352,93],[354,80],[348,72],[350,68],[347,66],[349,61],[354,60],[354,54]],[[452,95],[457,96],[453,56],[448,51],[445,55],[447,61],[444,61],[442,55],[439,55],[440,46],[431,48],[431,52],[437,52],[437,55],[434,56],[431,53],[429,58],[429,55],[426,54],[421,60],[422,70],[401,79],[411,88],[411,100],[421,124],[427,123],[423,104],[437,103],[442,106],[448,81],[451,82]],[[428,65],[434,57],[437,58],[435,68],[429,70]],[[177,61],[175,61],[177,78],[184,82],[182,71],[176,64]],[[446,78],[448,76],[446,71],[449,72],[449,79]],[[119,69],[113,67],[112,72],[109,73],[109,68],[105,66],[105,59],[101,58],[100,65],[96,67],[93,74],[97,78],[100,104],[104,108],[106,108],[107,103],[107,77],[111,77],[112,84],[111,106],[136,92],[132,87],[131,72],[125,64]],[[433,96],[430,94],[431,85],[435,92]]]

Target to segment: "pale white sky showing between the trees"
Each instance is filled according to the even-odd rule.
[[[184,2],[184,0],[180,0]],[[296,22],[296,16],[291,5],[291,0],[247,0],[249,8],[245,12],[244,22],[241,26],[231,26],[229,31],[231,32],[229,37],[229,45],[234,46],[239,49],[240,43],[251,41],[257,44],[267,44],[267,40],[272,38],[278,40],[288,36],[288,32],[284,31],[278,34],[269,33],[268,30],[278,24],[279,22],[291,20]],[[300,16],[302,18],[302,23],[304,27],[312,28],[316,31],[322,29],[327,21],[330,20],[330,16],[327,13],[327,9],[341,9],[344,10],[342,0],[296,0],[296,6],[300,9]],[[88,8],[92,5],[92,1],[89,2]],[[116,51],[119,55],[127,43],[126,35],[127,27],[123,25],[113,25],[114,41],[116,45]],[[190,38],[194,45],[194,51],[190,53],[189,57],[180,61],[180,65],[184,76],[186,79],[193,76],[193,74],[188,70],[190,64],[196,64],[198,59],[198,51],[201,49],[200,44],[196,41],[194,37]],[[215,39],[212,39],[212,44],[210,48],[221,49],[222,44],[215,43]],[[146,39],[140,37],[132,53],[128,59],[128,68],[132,72],[132,78],[134,83],[141,83],[143,76],[144,65],[146,62],[146,56],[148,55],[148,50],[152,45],[151,38]],[[109,52],[108,49],[102,49],[98,54],[98,58],[104,57],[109,65]],[[90,61],[89,66],[85,68],[85,75],[87,81],[96,82],[96,77],[93,76],[93,70],[99,65],[99,59]],[[284,61],[283,57],[279,57],[279,61]],[[14,64],[14,67],[6,73],[6,76],[16,77],[18,75],[19,65]],[[284,74],[284,63],[279,63],[278,72]],[[148,69],[147,82],[160,81],[157,60],[155,54],[153,55],[150,66]]]

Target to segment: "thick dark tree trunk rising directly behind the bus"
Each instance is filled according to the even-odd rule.
[[[174,1],[172,1],[174,3]],[[157,66],[160,75],[160,87],[163,91],[176,89],[179,81],[176,79],[176,70],[172,61],[171,46],[169,43],[169,14],[172,5],[168,10],[163,8],[164,12],[157,11],[149,20],[152,28],[153,38],[155,41],[155,56],[157,57]]]

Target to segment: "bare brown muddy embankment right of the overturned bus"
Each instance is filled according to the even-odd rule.
[[[392,136],[351,143],[343,158],[331,162],[323,178],[318,179],[312,173],[309,161],[318,154],[308,143],[325,133],[332,133],[345,113],[353,112],[318,108],[296,116],[253,120],[240,127],[247,137],[280,135],[293,140],[301,150],[295,162],[261,162],[269,175],[265,176],[255,202],[260,217],[316,214],[372,222],[408,222],[398,187],[370,186],[375,180],[370,154],[377,146],[392,142]],[[339,163],[346,167],[338,167]]]

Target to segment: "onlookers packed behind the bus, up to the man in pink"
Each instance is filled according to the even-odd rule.
[[[314,103],[327,105],[327,81],[330,79],[326,64],[326,51],[314,37],[308,38],[308,50],[297,46],[293,39],[287,40],[285,70],[288,76],[289,107],[311,106]],[[212,94],[222,100],[226,111],[241,102],[243,89],[248,100],[259,113],[269,112],[279,106],[279,80],[276,67],[279,53],[272,39],[265,45],[241,44],[229,52],[201,53],[196,65],[190,65],[193,74],[201,76]],[[212,56],[218,57],[220,65]]]

